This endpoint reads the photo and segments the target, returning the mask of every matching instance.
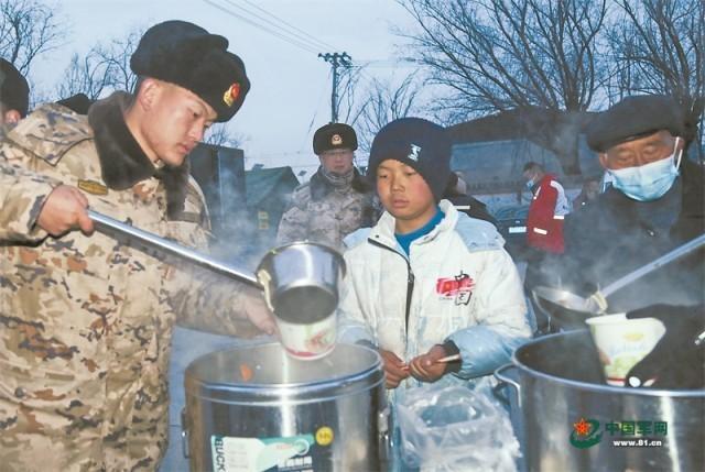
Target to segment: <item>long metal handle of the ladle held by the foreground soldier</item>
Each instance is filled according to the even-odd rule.
[[[97,211],[88,210],[88,216],[94,221],[96,230],[100,231],[104,234],[115,237],[115,234],[117,233],[118,235],[126,237],[129,240],[139,241],[147,248],[156,249],[170,255],[176,255],[186,261],[194,262],[198,265],[207,267],[214,272],[218,272],[220,274],[237,278],[241,282],[246,282],[250,285],[256,286],[257,288],[262,288],[254,275],[247,271],[234,267],[232,265],[227,264],[223,261],[218,261],[214,257],[210,257],[209,255],[202,254],[197,251],[166,240],[149,231],[134,228],[130,224],[126,224]]]

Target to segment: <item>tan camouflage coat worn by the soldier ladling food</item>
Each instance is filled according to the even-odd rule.
[[[175,320],[252,332],[232,317],[260,296],[100,233],[35,222],[59,184],[90,207],[204,248],[186,166],[155,169],[122,120],[126,95],[88,117],[45,106],[0,146],[0,463],[3,471],[154,470],[167,441]],[[248,289],[249,290],[249,289]]]

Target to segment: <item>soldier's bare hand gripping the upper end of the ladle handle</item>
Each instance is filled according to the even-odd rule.
[[[84,234],[90,234],[94,226],[87,208],[88,199],[79,189],[59,185],[46,197],[36,223],[53,237],[59,237],[75,229],[80,229]]]

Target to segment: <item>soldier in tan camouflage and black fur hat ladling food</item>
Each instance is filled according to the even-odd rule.
[[[191,23],[158,24],[131,58],[134,96],[117,92],[87,117],[42,107],[0,146],[3,471],[155,470],[174,322],[273,332],[254,288],[88,235],[90,206],[205,248],[204,198],[185,156],[249,89],[227,45]]]

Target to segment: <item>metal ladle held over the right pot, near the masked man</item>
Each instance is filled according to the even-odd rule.
[[[584,326],[583,321],[586,318],[601,315],[607,310],[608,296],[657,268],[695,251],[703,244],[705,244],[705,234],[701,234],[661,257],[630,272],[587,298],[567,290],[546,286],[534,287],[532,296],[535,304],[551,315],[552,318],[555,318],[562,328],[581,328]]]

